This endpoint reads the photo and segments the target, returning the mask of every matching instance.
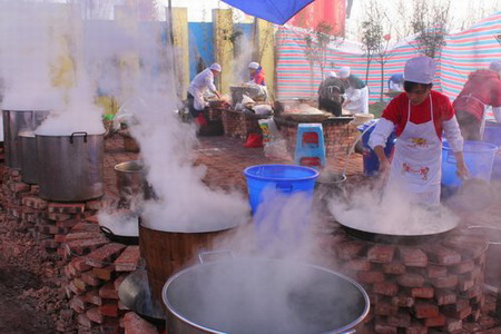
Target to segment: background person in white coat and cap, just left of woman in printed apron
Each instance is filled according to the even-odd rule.
[[[351,73],[350,67],[340,69],[338,76],[345,84],[346,99],[343,104],[344,109],[352,115],[369,114],[369,88],[364,81]]]

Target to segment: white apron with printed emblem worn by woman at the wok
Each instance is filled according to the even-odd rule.
[[[442,140],[433,122],[431,96],[430,109],[430,121],[413,124],[409,101],[407,122],[395,143],[386,188],[389,191],[402,190],[405,196],[409,194],[412,203],[433,207],[440,204]]]

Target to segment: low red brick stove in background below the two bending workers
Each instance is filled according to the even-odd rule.
[[[222,110],[225,136],[244,140],[247,139],[248,135],[252,132],[261,134],[258,120],[263,118],[266,117],[229,109]]]

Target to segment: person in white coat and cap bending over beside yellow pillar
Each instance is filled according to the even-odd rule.
[[[188,108],[191,117],[197,118],[204,111],[205,107],[207,107],[207,101],[204,98],[204,94],[207,89],[217,98],[220,97],[214,85],[214,78],[217,77],[220,71],[220,65],[214,62],[193,79],[188,88]]]

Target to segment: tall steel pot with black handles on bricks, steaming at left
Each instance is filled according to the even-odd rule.
[[[55,202],[84,202],[101,197],[105,134],[70,136],[36,134],[40,197]]]

